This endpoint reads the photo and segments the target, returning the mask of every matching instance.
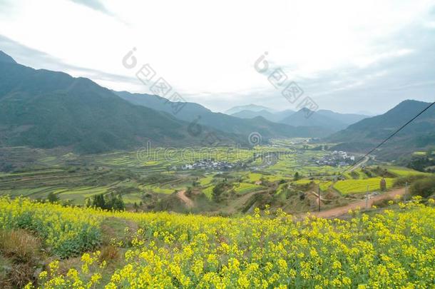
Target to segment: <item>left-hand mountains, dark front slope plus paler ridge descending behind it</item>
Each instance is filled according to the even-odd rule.
[[[178,104],[159,96],[114,92],[88,78],[31,69],[0,51],[0,146],[100,153],[149,140],[162,146],[210,145],[209,136],[220,144],[245,146],[252,132],[260,133],[263,142],[327,136],[321,128],[236,118],[197,103],[182,103],[174,114]]]

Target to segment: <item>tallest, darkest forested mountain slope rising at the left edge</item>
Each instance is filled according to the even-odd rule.
[[[135,106],[88,78],[35,70],[0,58],[0,145],[98,153],[156,144],[199,143],[188,123]],[[220,135],[229,141],[227,135]]]

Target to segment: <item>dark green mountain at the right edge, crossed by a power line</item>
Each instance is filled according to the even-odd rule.
[[[365,152],[381,143],[391,133],[411,120],[417,113],[429,106],[423,101],[402,101],[380,116],[365,118],[352,124],[343,131],[326,138],[327,141],[340,143],[336,148],[346,151]],[[432,106],[416,118],[403,131],[385,143],[378,151],[379,157],[394,158],[411,153],[416,148],[435,145],[435,107]]]

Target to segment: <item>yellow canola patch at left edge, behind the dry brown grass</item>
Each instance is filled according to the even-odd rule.
[[[100,219],[81,208],[37,203],[28,198],[0,198],[0,228],[24,228],[41,237],[61,258],[100,244]]]

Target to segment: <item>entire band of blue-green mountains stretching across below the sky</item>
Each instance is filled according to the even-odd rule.
[[[335,148],[364,152],[409,121],[429,103],[403,101],[381,116],[319,110],[274,111],[237,106],[214,113],[198,103],[111,91],[88,78],[31,69],[0,51],[0,146],[66,147],[82,153],[158,146],[248,145],[257,132],[270,138],[315,137]],[[180,107],[180,111],[174,108]],[[177,113],[175,113],[177,112]],[[435,108],[423,113],[389,141],[390,154],[435,144]],[[387,156],[384,153],[384,156]]]

